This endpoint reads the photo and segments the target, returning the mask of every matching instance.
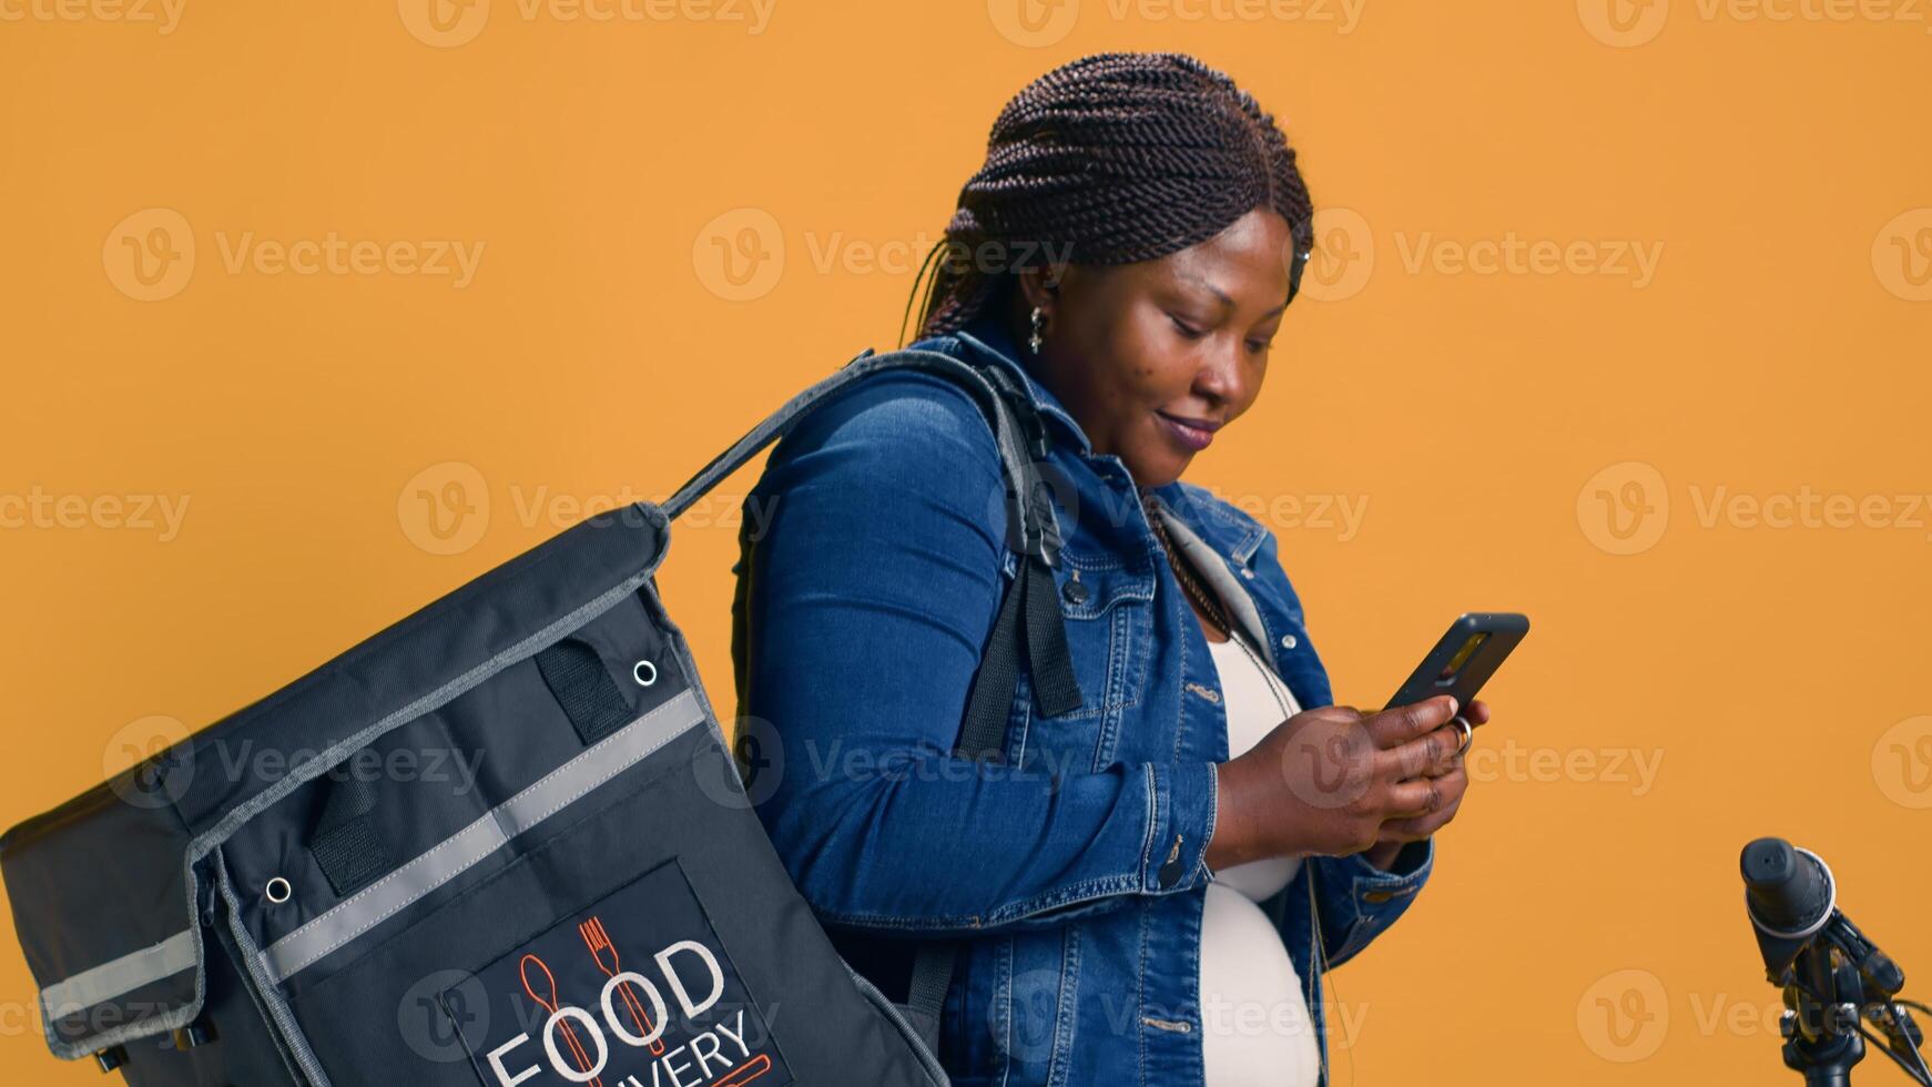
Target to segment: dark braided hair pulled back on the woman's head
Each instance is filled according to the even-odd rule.
[[[1314,207],[1273,114],[1180,52],[1068,62],[993,122],[985,166],[920,268],[922,278],[933,268],[920,334],[952,332],[1005,299],[1018,268],[1151,261],[1258,207],[1289,222],[1294,253],[1285,257],[1298,286]]]

